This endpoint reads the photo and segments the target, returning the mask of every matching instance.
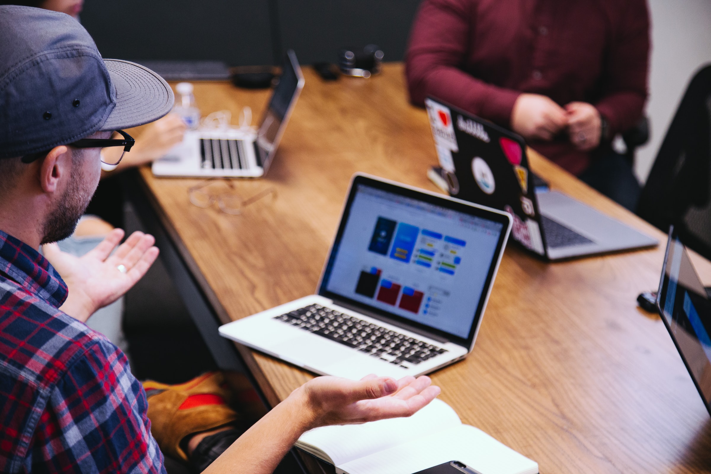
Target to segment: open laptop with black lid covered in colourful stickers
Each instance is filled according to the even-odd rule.
[[[439,99],[425,104],[449,193],[509,212],[523,247],[557,260],[658,244],[570,196],[536,190],[517,134]]]

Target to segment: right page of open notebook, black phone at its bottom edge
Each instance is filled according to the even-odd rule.
[[[454,426],[337,466],[348,474],[412,474],[459,460],[481,474],[536,474],[538,463],[474,426]]]

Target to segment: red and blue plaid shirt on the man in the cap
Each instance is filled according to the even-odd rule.
[[[58,308],[67,286],[0,231],[0,472],[165,473],[124,353]]]

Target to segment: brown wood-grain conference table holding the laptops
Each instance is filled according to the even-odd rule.
[[[267,197],[228,215],[190,203],[196,179],[141,179],[182,257],[224,321],[313,293],[356,171],[437,190],[437,163],[423,109],[407,102],[402,65],[369,80],[306,87],[267,178],[210,183]],[[203,115],[249,105],[255,121],[269,91],[198,82]],[[510,241],[474,352],[432,374],[440,396],[551,473],[711,472],[711,420],[658,316],[636,306],[656,289],[665,235],[549,161],[530,155],[552,188],[622,220],[656,249],[547,264]],[[232,190],[230,190],[232,185]],[[711,275],[711,272],[708,272]],[[269,403],[313,375],[246,348],[240,352]]]

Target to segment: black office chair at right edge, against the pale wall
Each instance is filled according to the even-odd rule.
[[[711,65],[691,80],[657,153],[637,215],[663,232],[669,225],[711,259]]]

